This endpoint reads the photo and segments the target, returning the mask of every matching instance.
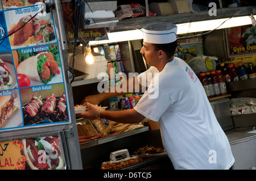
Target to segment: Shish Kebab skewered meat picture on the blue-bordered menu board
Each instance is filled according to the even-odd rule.
[[[68,121],[63,83],[20,89],[24,125]]]

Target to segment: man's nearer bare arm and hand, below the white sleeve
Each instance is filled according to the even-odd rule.
[[[145,117],[135,111],[134,109],[130,110],[122,110],[122,111],[106,111],[106,110],[100,110],[97,106],[94,106],[93,104],[86,103],[85,106],[89,109],[86,112],[77,114],[77,117],[84,117],[89,120],[94,120],[97,118],[105,118],[112,121],[116,121],[118,123],[139,123],[141,122]]]

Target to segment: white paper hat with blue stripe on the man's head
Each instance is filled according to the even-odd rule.
[[[173,23],[150,23],[142,28],[143,41],[154,44],[172,43],[177,39],[177,26]]]

